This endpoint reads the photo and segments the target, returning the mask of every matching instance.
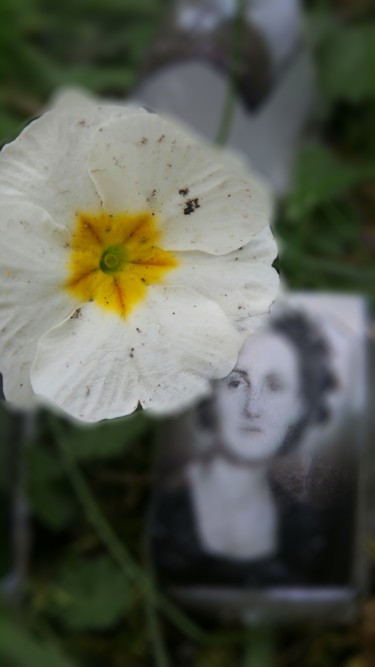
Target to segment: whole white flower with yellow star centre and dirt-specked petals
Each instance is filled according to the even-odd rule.
[[[170,121],[57,103],[0,155],[7,400],[84,420],[187,406],[277,288],[254,177]]]

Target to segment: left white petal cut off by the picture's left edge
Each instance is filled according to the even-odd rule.
[[[72,312],[61,290],[67,234],[42,209],[2,202],[0,244],[0,372],[7,400],[31,405],[29,369],[39,336]]]

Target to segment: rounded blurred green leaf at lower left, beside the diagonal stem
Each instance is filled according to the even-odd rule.
[[[64,569],[50,611],[70,630],[105,629],[119,620],[130,601],[124,575],[103,556]]]

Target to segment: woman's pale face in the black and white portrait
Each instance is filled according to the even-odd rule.
[[[275,454],[302,413],[293,347],[277,334],[250,336],[236,368],[217,383],[216,411],[233,454],[249,462]]]

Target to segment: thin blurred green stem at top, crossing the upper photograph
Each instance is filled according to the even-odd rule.
[[[246,0],[237,0],[237,11],[233,22],[228,87],[225,95],[224,107],[220,118],[219,128],[215,139],[215,143],[219,146],[224,146],[227,143],[233,121],[237,92],[236,75],[243,40],[245,7]]]

